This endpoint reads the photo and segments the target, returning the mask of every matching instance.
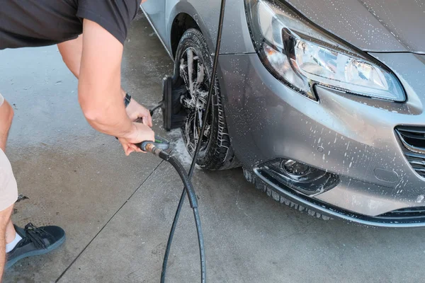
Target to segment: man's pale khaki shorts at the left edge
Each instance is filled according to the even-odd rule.
[[[4,98],[0,94],[0,106]],[[18,185],[16,185],[11,163],[0,149],[0,212],[18,200]]]

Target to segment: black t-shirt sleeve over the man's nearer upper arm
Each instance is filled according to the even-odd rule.
[[[140,0],[79,0],[77,17],[98,23],[124,44],[139,4]]]

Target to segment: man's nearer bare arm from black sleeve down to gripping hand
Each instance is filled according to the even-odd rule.
[[[84,40],[79,71],[79,103],[89,124],[118,137],[125,154],[141,151],[135,144],[153,141],[148,126],[130,120],[121,94],[123,45],[93,21],[84,19]]]

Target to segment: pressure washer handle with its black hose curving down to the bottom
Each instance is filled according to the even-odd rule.
[[[162,160],[169,162],[176,169],[177,173],[179,173],[181,181],[183,182],[184,188],[188,195],[191,208],[193,210],[193,216],[195,217],[196,232],[198,233],[201,282],[205,283],[206,282],[206,263],[205,263],[205,248],[204,248],[204,241],[203,241],[203,233],[202,233],[202,227],[200,225],[198,201],[196,200],[196,193],[195,193],[195,190],[193,189],[193,184],[191,182],[191,179],[189,178],[189,175],[186,172],[186,169],[181,165],[181,163],[177,160],[177,158],[172,156],[168,152],[166,152],[166,150],[169,149],[169,141],[167,141],[166,139],[155,136],[155,141],[143,141],[142,143],[137,144],[137,146],[139,146],[140,149],[142,149],[142,151],[154,154],[154,156],[158,156],[159,158],[162,158]],[[173,230],[172,230],[172,234],[174,234]]]

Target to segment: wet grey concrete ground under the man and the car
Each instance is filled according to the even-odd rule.
[[[125,46],[123,85],[145,105],[160,98],[172,62],[144,16]],[[50,255],[18,262],[4,282],[159,282],[181,183],[149,155],[125,157],[85,122],[77,81],[56,47],[0,52],[0,92],[16,117],[8,157],[18,225],[67,231]],[[164,134],[160,118],[155,129]],[[169,137],[179,139],[179,132]],[[180,151],[181,158],[185,158]],[[208,282],[423,282],[424,229],[370,229],[300,214],[257,191],[241,169],[196,171]],[[169,282],[198,282],[193,216],[176,231]]]

